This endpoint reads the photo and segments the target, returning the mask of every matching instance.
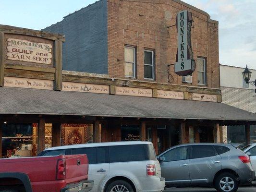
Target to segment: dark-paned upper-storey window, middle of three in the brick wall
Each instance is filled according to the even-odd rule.
[[[154,79],[154,51],[144,50],[144,78]]]

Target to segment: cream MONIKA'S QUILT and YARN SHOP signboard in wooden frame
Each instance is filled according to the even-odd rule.
[[[22,39],[7,38],[8,60],[51,64],[52,45]]]

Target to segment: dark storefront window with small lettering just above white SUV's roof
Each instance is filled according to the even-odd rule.
[[[131,125],[121,126],[122,141],[140,141],[140,127]]]

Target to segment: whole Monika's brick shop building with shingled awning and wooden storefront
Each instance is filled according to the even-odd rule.
[[[172,65],[183,10],[193,15],[192,77]],[[0,156],[134,140],[151,141],[160,153],[219,143],[222,125],[256,124],[255,114],[221,103],[218,22],[180,0],[99,0],[42,31],[0,25],[0,40]],[[12,58],[10,42],[50,52],[39,49],[42,61]],[[21,135],[25,143],[10,141]]]

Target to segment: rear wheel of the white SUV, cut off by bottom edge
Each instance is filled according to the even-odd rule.
[[[115,180],[109,184],[106,192],[134,192],[134,190],[127,181]]]

